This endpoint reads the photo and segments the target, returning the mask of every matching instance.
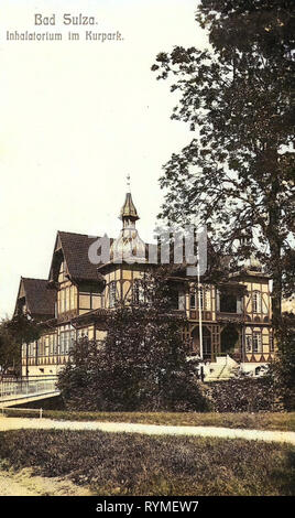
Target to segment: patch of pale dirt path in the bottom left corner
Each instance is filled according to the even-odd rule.
[[[90,496],[86,487],[79,487],[63,478],[32,475],[26,467],[19,472],[0,470],[0,496]]]

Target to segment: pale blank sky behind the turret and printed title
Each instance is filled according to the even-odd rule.
[[[128,174],[140,235],[152,240],[162,166],[192,133],[170,119],[177,99],[151,66],[174,45],[207,45],[196,6],[1,0],[0,317],[12,315],[21,276],[47,278],[57,230],[118,236]],[[65,13],[97,24],[64,25]],[[55,14],[55,25],[35,25],[35,14]],[[88,30],[121,40],[85,41]],[[63,40],[11,41],[7,31]]]

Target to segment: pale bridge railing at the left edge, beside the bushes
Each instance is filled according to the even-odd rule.
[[[0,400],[15,398],[18,396],[31,396],[34,393],[54,392],[56,388],[56,377],[46,379],[22,379],[15,381],[0,382]]]

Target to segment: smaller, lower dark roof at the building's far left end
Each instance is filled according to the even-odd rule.
[[[23,287],[25,304],[31,315],[54,316],[56,290],[48,288],[46,279],[22,277],[21,285]]]

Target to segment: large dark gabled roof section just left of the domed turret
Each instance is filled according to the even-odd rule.
[[[87,234],[74,234],[58,230],[57,242],[58,238],[63,250],[64,260],[67,265],[68,274],[73,280],[89,282],[103,281],[103,277],[97,271],[98,265],[90,262],[88,257],[90,245],[98,240],[99,237],[89,237]],[[57,251],[56,247],[55,251]],[[51,270],[51,278],[54,277],[53,273],[54,272]]]

